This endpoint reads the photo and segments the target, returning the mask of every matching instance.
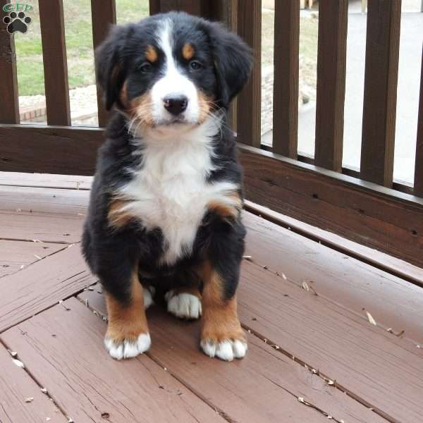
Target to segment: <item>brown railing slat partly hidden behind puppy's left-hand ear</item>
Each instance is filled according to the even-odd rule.
[[[112,24],[116,23],[115,0],[91,0],[92,44],[96,49],[109,33]],[[95,56],[94,56],[95,60]],[[98,66],[98,63],[95,63]],[[102,90],[97,84],[97,107],[99,126],[106,126],[110,114],[104,109]]]

